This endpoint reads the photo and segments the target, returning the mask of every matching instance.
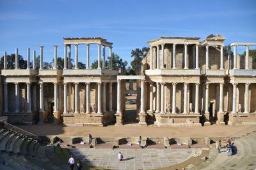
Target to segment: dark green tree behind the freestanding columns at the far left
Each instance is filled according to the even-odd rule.
[[[7,68],[8,69],[15,69],[15,54],[7,55]],[[0,69],[4,68],[4,56],[0,59]],[[24,60],[21,55],[19,55],[19,69],[26,69],[27,68],[27,60]]]

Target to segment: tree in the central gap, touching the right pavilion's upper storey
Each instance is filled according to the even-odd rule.
[[[132,50],[131,57],[134,57],[134,59],[131,62],[131,66],[136,74],[140,71],[141,60],[146,57],[148,50],[149,47],[143,47],[141,49],[136,48],[135,50]]]

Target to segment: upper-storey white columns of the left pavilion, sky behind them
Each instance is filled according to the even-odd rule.
[[[67,46],[68,46],[68,60],[67,60]],[[90,69],[90,44],[86,44],[87,46],[87,53],[86,53],[86,69]],[[105,60],[106,60],[106,46],[102,45],[102,67],[100,62],[100,49],[101,45],[98,44],[98,69],[105,69]],[[109,47],[109,69],[112,69],[112,46]],[[70,69],[71,64],[71,45],[64,45],[64,69]],[[78,69],[78,44],[75,44],[75,69]]]

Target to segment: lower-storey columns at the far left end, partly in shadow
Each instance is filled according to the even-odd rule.
[[[15,85],[15,113],[20,113],[20,92],[19,92],[19,83],[14,83]],[[26,113],[31,113],[31,83],[26,83],[27,85],[27,97]],[[33,86],[33,106],[36,110],[36,86]],[[4,83],[4,113],[8,113],[8,83]]]

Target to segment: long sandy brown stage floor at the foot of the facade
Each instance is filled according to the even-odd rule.
[[[256,130],[256,126],[211,125],[206,127],[140,127],[138,124],[115,127],[63,127],[61,125],[18,125],[21,129],[38,135],[87,136],[89,133],[99,137],[227,137],[241,136]]]

